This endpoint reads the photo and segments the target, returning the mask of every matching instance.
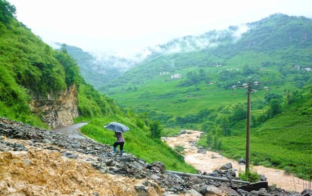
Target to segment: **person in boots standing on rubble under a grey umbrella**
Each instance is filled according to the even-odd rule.
[[[105,128],[112,130],[115,132],[115,137],[117,138],[117,141],[113,144],[113,153],[116,154],[117,152],[117,146],[120,145],[120,155],[123,155],[123,144],[125,143],[125,140],[123,139],[122,133],[129,131],[130,129],[123,124],[120,123],[110,123],[108,125],[104,126]]]

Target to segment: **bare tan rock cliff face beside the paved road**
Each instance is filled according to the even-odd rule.
[[[51,128],[71,125],[73,118],[78,117],[77,87],[70,86],[55,95],[33,97],[30,107]]]

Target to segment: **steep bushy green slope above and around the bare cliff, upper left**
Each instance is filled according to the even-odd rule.
[[[60,92],[73,85],[74,91],[78,87],[78,111],[82,116],[119,113],[112,99],[99,94],[82,79],[77,63],[65,48],[53,50],[45,44],[14,18],[15,7],[7,1],[0,1],[0,10],[1,116],[46,126],[42,124],[46,111],[34,114],[31,103],[57,99]]]

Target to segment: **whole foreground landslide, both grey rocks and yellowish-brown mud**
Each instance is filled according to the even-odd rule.
[[[290,196],[269,187],[254,192],[220,181],[165,173],[161,162],[147,163],[91,139],[69,138],[0,117],[0,195],[15,196]],[[232,169],[211,174],[236,178]],[[300,195],[300,194],[299,194]]]

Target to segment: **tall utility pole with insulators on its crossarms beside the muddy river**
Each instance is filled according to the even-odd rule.
[[[261,88],[257,86],[261,84],[259,82],[251,82],[251,77],[248,78],[248,83],[240,85],[240,82],[237,82],[237,86],[232,86],[232,90],[237,88],[247,89],[247,125],[246,125],[246,167],[245,172],[249,171],[250,167],[250,117],[251,117],[251,95]],[[255,86],[255,87],[253,87]],[[264,90],[270,90],[269,87],[264,87]]]

